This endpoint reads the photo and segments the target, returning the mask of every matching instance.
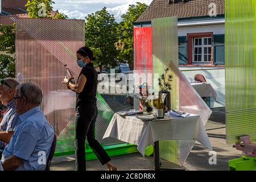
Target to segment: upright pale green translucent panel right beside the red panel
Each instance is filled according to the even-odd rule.
[[[170,67],[170,61],[178,64],[178,36],[177,18],[159,18],[152,20],[152,61],[154,89],[158,92],[158,77],[162,75],[164,69]],[[171,105],[173,109],[178,109],[178,86],[177,77],[172,82]],[[160,157],[173,163],[178,163],[179,143],[177,141],[160,141]]]

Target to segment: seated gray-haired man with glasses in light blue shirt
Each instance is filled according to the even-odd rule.
[[[10,143],[3,151],[3,170],[44,170],[54,138],[54,130],[40,110],[43,93],[27,82],[16,87],[16,112],[19,122]]]

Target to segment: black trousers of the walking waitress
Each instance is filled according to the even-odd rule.
[[[86,170],[85,139],[87,139],[90,148],[92,148],[94,154],[96,154],[102,165],[111,160],[101,144],[95,139],[95,123],[97,115],[98,109],[94,104],[79,106],[76,109],[75,149],[77,171]]]

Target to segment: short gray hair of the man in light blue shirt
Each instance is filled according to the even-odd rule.
[[[16,87],[19,97],[27,98],[30,104],[40,105],[43,100],[43,92],[40,87],[32,82],[26,82]]]

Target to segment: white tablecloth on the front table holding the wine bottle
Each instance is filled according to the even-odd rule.
[[[114,114],[103,138],[117,138],[137,145],[144,156],[145,148],[159,140],[197,140],[212,150],[205,127],[199,115],[173,118],[170,121],[142,121],[135,116]]]

